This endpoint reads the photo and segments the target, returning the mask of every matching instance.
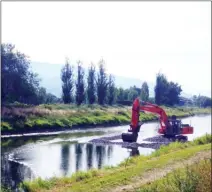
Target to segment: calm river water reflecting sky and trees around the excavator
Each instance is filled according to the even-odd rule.
[[[194,116],[182,119],[194,127],[192,140],[211,133],[211,116]],[[157,135],[157,122],[141,126],[138,143]],[[90,140],[102,136],[127,132],[129,126],[76,130],[54,136],[25,136],[1,139],[1,182],[13,187],[23,180],[36,177],[70,176],[79,170],[115,166],[135,154],[147,155],[151,148],[139,147],[136,151],[119,145],[99,145]]]

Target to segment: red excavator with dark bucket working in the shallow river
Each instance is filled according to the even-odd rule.
[[[160,128],[158,133],[164,137],[187,140],[187,137],[184,134],[193,134],[193,127],[189,124],[182,124],[181,120],[176,119],[175,115],[169,119],[166,112],[158,105],[143,102],[140,101],[139,98],[136,98],[133,102],[131,124],[130,129],[128,130],[128,132],[131,133],[122,133],[122,140],[124,142],[137,141],[138,132],[142,125],[142,123],[139,122],[140,112],[149,112],[159,116]]]

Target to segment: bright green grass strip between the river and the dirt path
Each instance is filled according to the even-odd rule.
[[[77,172],[71,177],[51,178],[48,180],[36,179],[32,182],[25,181],[21,188],[28,192],[43,191],[112,191],[112,189],[135,182],[147,171],[157,168],[163,169],[175,162],[182,162],[195,156],[201,151],[211,150],[211,135],[205,135],[192,142],[171,143],[162,146],[149,156],[137,156],[125,160],[117,167],[107,167],[101,170]]]

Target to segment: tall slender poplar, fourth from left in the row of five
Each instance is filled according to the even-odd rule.
[[[99,73],[97,75],[97,96],[98,96],[98,103],[103,105],[106,101],[107,96],[107,89],[108,89],[108,82],[107,82],[107,74],[105,69],[105,62],[104,60],[100,60],[99,62]]]

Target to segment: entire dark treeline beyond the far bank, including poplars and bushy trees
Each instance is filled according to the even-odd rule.
[[[191,100],[182,100],[181,86],[175,82],[169,82],[165,75],[160,73],[156,76],[155,97],[150,97],[147,82],[143,82],[141,87],[117,88],[115,78],[106,73],[103,59],[99,61],[97,67],[91,64],[87,74],[82,62],[78,61],[75,69],[67,59],[61,71],[58,72],[61,74],[62,82],[61,98],[58,98],[40,86],[41,79],[30,68],[29,58],[15,51],[14,45],[1,45],[1,61],[3,104],[20,102],[33,105],[43,103],[131,105],[136,97],[140,97],[143,101],[158,105],[174,106],[190,102],[191,105],[198,107],[211,106],[211,98],[205,96],[194,96]]]

